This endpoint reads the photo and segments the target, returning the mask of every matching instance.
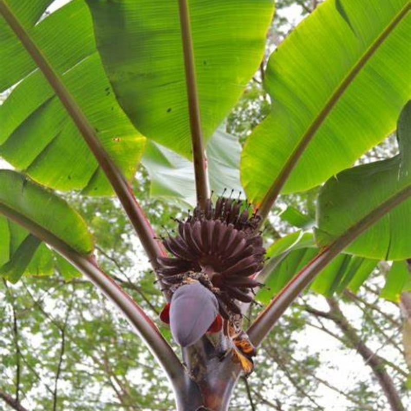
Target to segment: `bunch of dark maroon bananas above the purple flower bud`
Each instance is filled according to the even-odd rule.
[[[217,297],[222,317],[240,314],[235,300],[251,302],[250,289],[260,285],[253,279],[265,254],[259,217],[245,202],[219,197],[215,206],[208,200],[204,211],[196,207],[177,222],[178,235],[162,238],[173,255],[159,258],[163,283],[178,287],[187,278],[197,279]]]

